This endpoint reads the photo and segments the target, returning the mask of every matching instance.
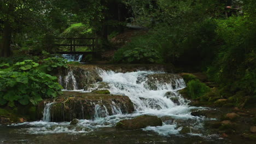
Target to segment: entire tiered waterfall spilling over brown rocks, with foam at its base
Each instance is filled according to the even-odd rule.
[[[82,70],[81,70],[82,71]],[[114,71],[105,71],[98,69],[96,75],[91,75],[90,71],[86,71],[84,77],[91,76],[86,85],[92,85],[90,90],[108,89],[111,94],[126,95],[133,103],[133,113],[127,113],[124,103],[117,99],[111,101],[95,100],[90,104],[81,103],[80,116],[88,117],[88,113],[84,111],[85,106],[90,105],[90,117],[92,119],[80,119],[77,126],[70,127],[69,122],[65,123],[48,123],[47,126],[42,123],[32,123],[38,127],[30,128],[30,133],[89,133],[89,131],[98,130],[98,128],[114,127],[120,120],[131,119],[142,115],[154,115],[162,118],[162,127],[147,127],[143,130],[155,131],[160,135],[178,134],[183,124],[187,127],[202,128],[200,118],[191,115],[191,110],[203,109],[202,107],[190,107],[189,101],[184,99],[179,90],[185,88],[185,82],[181,76],[176,74],[166,74],[159,71],[135,71],[129,73],[115,73]],[[70,70],[66,76],[60,77],[60,83],[63,87],[69,87],[71,90],[77,89],[77,82],[88,79],[75,79],[77,71]],[[98,80],[98,77],[101,80]],[[95,77],[97,80],[92,81]],[[78,81],[79,80],[79,81]],[[96,82],[100,81],[100,82]],[[105,83],[107,86],[104,86]],[[102,86],[103,85],[103,86]],[[77,90],[75,91],[77,92]],[[81,91],[89,92],[89,91]],[[113,97],[113,96],[112,96]],[[50,122],[50,109],[53,103],[45,105],[43,121]],[[66,115],[64,112],[63,115]],[[64,116],[63,116],[64,117]],[[173,121],[175,121],[173,123]],[[187,123],[189,119],[189,124]],[[80,128],[83,127],[81,130]],[[39,132],[35,132],[39,131]]]

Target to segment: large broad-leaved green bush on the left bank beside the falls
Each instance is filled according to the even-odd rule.
[[[32,60],[18,62],[0,70],[0,105],[15,103],[37,105],[43,98],[54,98],[61,94],[62,87],[57,77],[39,69]]]

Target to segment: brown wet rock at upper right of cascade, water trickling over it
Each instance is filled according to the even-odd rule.
[[[144,87],[147,87],[150,90],[157,90],[159,85],[165,86],[170,85],[173,89],[182,87],[180,82],[183,81],[182,77],[176,74],[150,74],[147,76],[147,81],[144,84]],[[137,81],[140,83],[142,81]]]

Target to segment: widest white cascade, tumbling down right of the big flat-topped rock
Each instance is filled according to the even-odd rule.
[[[185,82],[182,77],[170,74],[170,77],[174,77],[173,80],[158,81],[154,79],[152,81],[150,79],[148,81],[148,75],[151,74],[154,73],[151,71],[136,71],[132,73],[101,72],[103,82],[110,83],[109,91],[113,94],[127,95],[134,104],[136,111],[152,112],[154,110],[158,112],[157,110],[165,110],[167,112],[168,110],[173,110],[177,107],[177,104],[169,97],[166,97],[167,92],[172,92],[173,97],[177,98],[181,105],[187,105],[187,101],[177,92],[179,89],[185,88]],[[115,105],[113,104],[113,106]]]

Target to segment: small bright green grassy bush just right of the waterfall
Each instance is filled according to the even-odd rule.
[[[211,88],[207,87],[205,83],[199,80],[191,80],[187,83],[187,91],[190,98],[197,99],[207,92],[210,92]]]

